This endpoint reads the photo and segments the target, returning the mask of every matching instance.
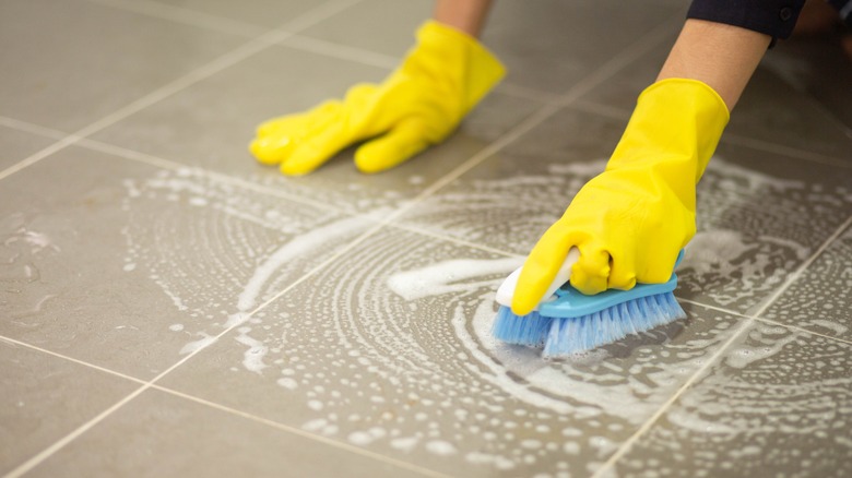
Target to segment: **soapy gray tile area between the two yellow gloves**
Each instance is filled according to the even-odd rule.
[[[583,183],[603,171],[626,122],[563,110],[401,222],[525,255]]]

